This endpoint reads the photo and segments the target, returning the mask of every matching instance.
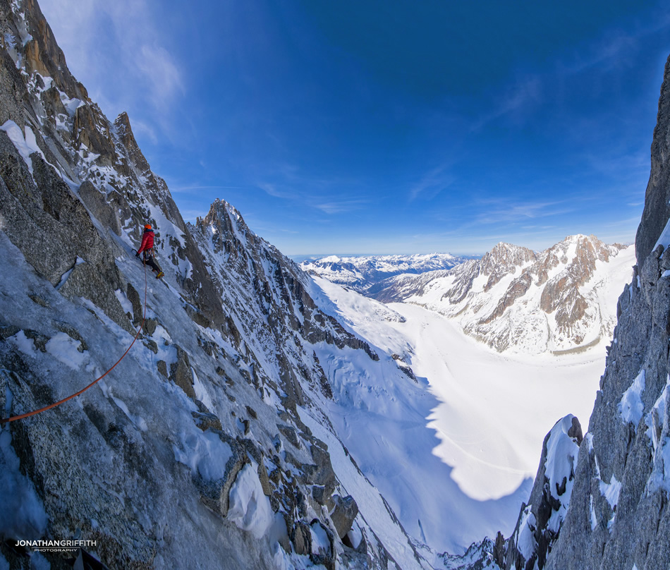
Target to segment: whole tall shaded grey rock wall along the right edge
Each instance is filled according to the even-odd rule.
[[[670,567],[670,240],[664,232],[670,216],[669,93],[667,63],[637,234],[638,265],[619,298],[619,322],[579,447],[564,522],[548,543],[531,542],[525,552],[514,535],[505,569]],[[542,509],[544,497],[535,493],[542,480],[538,473],[529,512]],[[524,516],[518,529],[528,522]]]

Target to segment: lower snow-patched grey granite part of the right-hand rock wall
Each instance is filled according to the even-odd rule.
[[[667,388],[670,269],[662,248],[619,298],[621,315],[580,447],[575,487],[551,569],[623,570],[670,564]],[[632,407],[631,407],[632,406]]]

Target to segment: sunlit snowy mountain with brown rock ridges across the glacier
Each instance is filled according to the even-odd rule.
[[[497,351],[560,353],[609,338],[609,290],[628,277],[620,274],[629,271],[632,253],[595,236],[570,236],[537,254],[499,243],[481,260],[446,272],[382,281],[372,296],[453,317]]]

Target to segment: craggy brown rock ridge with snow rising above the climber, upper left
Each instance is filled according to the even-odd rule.
[[[88,98],[68,71],[36,2],[19,6],[2,0],[0,14],[6,44],[0,71],[6,87],[0,95],[0,123],[15,123],[19,137],[28,128],[25,137],[32,137],[35,146],[26,152],[37,150],[73,186],[83,184],[78,198],[97,219],[109,222],[117,235],[128,232],[138,239],[145,223],[158,226],[157,249],[181,270],[188,301],[199,310],[201,320],[221,324],[219,295],[202,265],[202,255],[165,182],[152,173],[139,150],[128,116],[121,114],[113,124]],[[22,144],[30,147],[26,140]],[[54,247],[61,243],[56,241]],[[74,265],[74,258],[70,263]]]

